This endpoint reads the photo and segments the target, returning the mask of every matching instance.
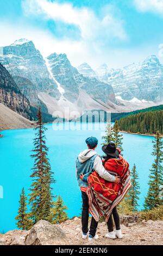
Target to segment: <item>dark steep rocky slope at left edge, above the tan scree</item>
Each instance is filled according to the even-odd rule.
[[[0,103],[28,119],[33,118],[29,101],[22,95],[14,79],[0,64]]]

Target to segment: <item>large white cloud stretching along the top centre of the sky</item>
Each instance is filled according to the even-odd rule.
[[[123,21],[106,13],[101,19],[89,8],[76,8],[70,3],[49,2],[48,0],[24,0],[22,3],[26,15],[41,15],[42,19],[61,21],[80,29],[83,40],[117,38],[126,40],[127,34]]]

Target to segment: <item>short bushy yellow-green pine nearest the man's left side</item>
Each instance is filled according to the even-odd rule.
[[[60,196],[58,196],[57,200],[53,202],[53,208],[51,209],[51,223],[57,224],[67,220],[67,206],[64,205],[64,202]]]

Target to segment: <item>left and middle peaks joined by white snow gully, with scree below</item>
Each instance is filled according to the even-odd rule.
[[[43,59],[33,42],[26,39],[1,48],[1,53],[0,63],[10,72],[21,92],[33,105],[41,100],[51,114],[67,106],[71,111],[82,113],[88,109],[108,111],[113,103],[116,105],[112,87],[79,74],[66,54],[53,53]]]

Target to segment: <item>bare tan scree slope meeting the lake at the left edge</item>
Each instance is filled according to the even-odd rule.
[[[12,111],[7,106],[0,103],[0,129],[24,129],[33,128],[32,121],[22,117],[22,115]]]

